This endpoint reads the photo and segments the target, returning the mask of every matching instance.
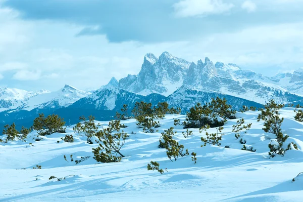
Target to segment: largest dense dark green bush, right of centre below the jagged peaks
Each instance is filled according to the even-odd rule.
[[[186,112],[186,120],[183,122],[184,128],[200,128],[205,125],[211,127],[223,126],[226,119],[235,118],[234,114],[236,112],[226,102],[225,98],[222,100],[217,97],[204,106],[197,103],[189,109],[189,112]],[[217,117],[222,117],[224,120],[219,121]]]

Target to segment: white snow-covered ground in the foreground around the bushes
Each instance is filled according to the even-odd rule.
[[[73,126],[66,131],[74,135],[74,143],[57,143],[66,135],[59,133],[36,142],[33,137],[37,134],[32,132],[26,142],[0,144],[0,201],[302,201],[303,176],[293,183],[291,180],[303,172],[303,123],[294,120],[293,108],[281,110],[283,133],[290,136],[285,145],[294,142],[299,150],[269,158],[268,144],[274,136],[264,133],[263,123],[257,122],[258,113],[236,114],[237,118],[244,118],[245,124],[252,123],[250,130],[240,133],[240,138],[256,152],[240,150],[240,138],[231,133],[238,119],[225,124],[221,147],[200,147],[200,137],[205,137],[205,132],[201,134],[198,129],[192,129],[193,135],[184,138],[181,132],[186,130],[175,127],[173,120],[182,120],[185,115],[167,115],[154,134],[137,129],[134,119],[125,120],[122,124],[128,127],[124,131],[130,136],[121,152],[126,157],[120,163],[109,164],[97,164],[91,152],[97,144],[87,144],[85,137],[73,133]],[[99,123],[104,127],[108,124]],[[170,127],[177,131],[174,139],[189,153],[197,153],[196,164],[190,155],[172,162],[166,150],[158,148],[161,132]],[[75,161],[70,161],[71,154],[74,160],[91,157],[75,165]],[[151,160],[158,161],[168,173],[147,171]],[[32,169],[36,165],[42,169]],[[48,180],[51,176],[69,177]]]

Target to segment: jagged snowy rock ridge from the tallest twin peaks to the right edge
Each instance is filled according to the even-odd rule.
[[[120,79],[119,88],[143,95],[159,93],[168,96],[184,85],[262,104],[270,99],[288,103],[301,99],[293,93],[303,95],[302,79],[300,71],[270,78],[242,70],[232,63],[214,64],[205,58],[204,62],[198,60],[195,64],[164,52],[159,59],[151,53],[146,54],[138,75]]]

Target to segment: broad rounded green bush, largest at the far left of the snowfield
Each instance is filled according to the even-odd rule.
[[[53,133],[65,133],[64,119],[58,115],[52,114],[44,117],[43,113],[34,119],[33,129],[38,131],[41,136],[51,135]]]

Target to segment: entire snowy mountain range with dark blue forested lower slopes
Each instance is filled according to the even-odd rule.
[[[270,99],[302,103],[303,69],[267,77],[233,63],[214,64],[209,58],[194,63],[168,52],[159,58],[148,53],[137,75],[129,74],[119,82],[113,77],[93,92],[69,85],[56,92],[0,88],[0,127],[12,122],[29,125],[41,112],[57,113],[68,124],[76,123],[80,115],[104,120],[112,118],[123,104],[131,109],[137,101],[167,101],[185,113],[196,102],[206,103],[214,97],[226,98],[235,109],[262,107]]]

